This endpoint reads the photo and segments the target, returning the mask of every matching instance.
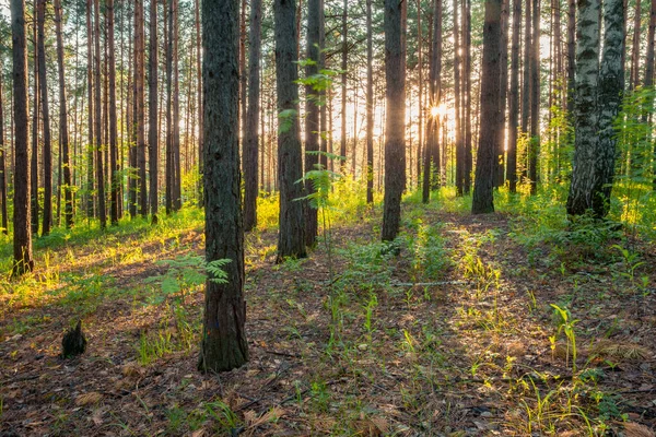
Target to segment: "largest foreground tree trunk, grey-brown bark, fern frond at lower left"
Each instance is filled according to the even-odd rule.
[[[209,271],[198,368],[225,371],[248,361],[244,302],[244,228],[239,178],[238,1],[202,0],[206,258]]]

